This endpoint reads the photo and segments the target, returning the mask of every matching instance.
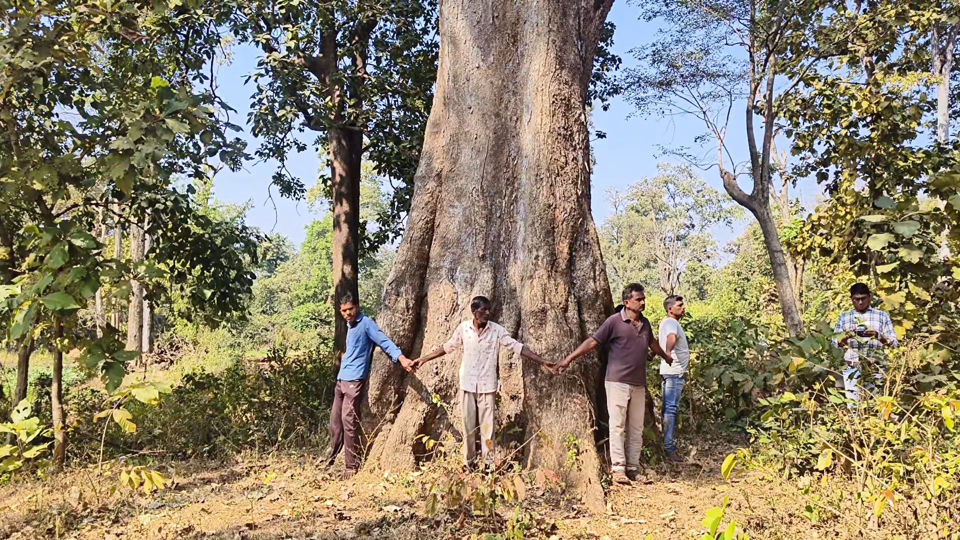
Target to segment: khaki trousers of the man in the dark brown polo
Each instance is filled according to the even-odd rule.
[[[626,382],[604,382],[607,411],[610,413],[610,461],[613,471],[636,471],[643,448],[643,413],[646,392],[643,386]]]

